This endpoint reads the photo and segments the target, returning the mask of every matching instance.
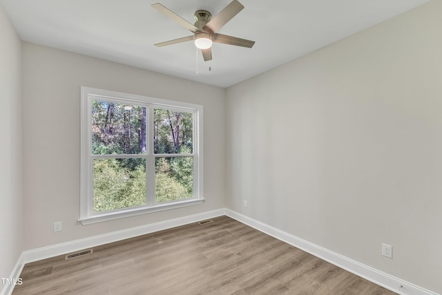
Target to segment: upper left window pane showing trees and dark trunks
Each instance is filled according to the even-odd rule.
[[[146,153],[146,108],[92,102],[94,155]]]

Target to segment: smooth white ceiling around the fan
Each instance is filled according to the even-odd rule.
[[[160,1],[193,23],[231,0],[0,0],[23,41],[228,87],[394,17],[428,0],[240,0],[245,6],[219,30],[256,41],[253,48],[213,44],[212,61],[193,42],[155,43],[191,35],[151,7]],[[198,57],[198,76],[197,72]],[[211,66],[211,71],[209,71]]]

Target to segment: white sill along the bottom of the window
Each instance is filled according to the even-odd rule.
[[[86,216],[84,218],[79,218],[78,221],[81,222],[82,225],[91,225],[93,223],[97,222],[104,222],[109,220],[115,220],[119,218],[126,218],[131,216],[137,216],[142,215],[146,213],[153,213],[153,212],[159,212],[159,211],[165,211],[170,209],[177,209],[187,206],[193,206],[197,204],[202,204],[204,202],[204,199],[192,199],[192,200],[182,200],[179,202],[173,202],[173,203],[165,203],[165,204],[157,204],[153,207],[137,207],[137,208],[130,208],[126,210],[119,210],[119,211],[113,211],[113,212],[105,212],[105,213],[97,213],[93,216]]]

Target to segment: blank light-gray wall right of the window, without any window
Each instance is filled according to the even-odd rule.
[[[228,88],[227,207],[442,293],[441,15],[431,1]]]

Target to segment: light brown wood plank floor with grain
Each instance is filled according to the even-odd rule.
[[[13,294],[395,294],[227,216],[29,263]]]

